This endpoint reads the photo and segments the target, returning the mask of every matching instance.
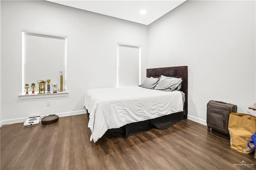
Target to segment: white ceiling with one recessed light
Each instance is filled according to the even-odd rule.
[[[149,25],[186,0],[48,0],[107,16]],[[146,14],[140,14],[145,10]]]

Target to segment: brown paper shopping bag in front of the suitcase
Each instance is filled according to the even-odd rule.
[[[256,117],[244,113],[231,113],[228,121],[230,147],[242,153],[251,153],[254,150],[247,146],[252,134],[256,133]],[[254,149],[254,148],[253,148]]]

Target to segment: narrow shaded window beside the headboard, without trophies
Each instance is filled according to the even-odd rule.
[[[117,87],[140,84],[141,46],[118,42]]]

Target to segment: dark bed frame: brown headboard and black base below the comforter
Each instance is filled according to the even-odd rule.
[[[114,136],[123,136],[128,138],[128,136],[146,132],[153,127],[158,129],[166,129],[175,125],[182,119],[187,119],[188,117],[188,66],[147,69],[147,73],[146,73],[147,77],[160,77],[160,75],[182,78],[182,87],[180,91],[183,91],[185,93],[186,100],[184,103],[184,111],[178,112],[178,113],[172,113],[170,115],[165,115],[155,119],[140,121],[136,123],[130,123],[120,128],[108,129],[104,134],[105,136],[107,136],[108,138],[112,138]],[[89,117],[89,113],[88,113],[88,117]]]

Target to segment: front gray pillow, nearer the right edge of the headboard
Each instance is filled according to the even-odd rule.
[[[155,90],[174,91],[181,88],[182,78],[160,76],[160,80],[154,87]]]

